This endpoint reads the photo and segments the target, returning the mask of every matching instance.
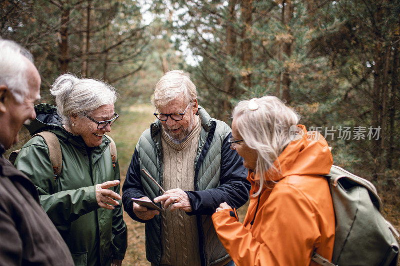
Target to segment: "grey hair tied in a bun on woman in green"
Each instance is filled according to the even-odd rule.
[[[58,115],[62,123],[70,124],[70,115],[89,114],[104,104],[114,104],[115,89],[99,80],[77,78],[72,74],[60,75],[50,89],[55,96]]]

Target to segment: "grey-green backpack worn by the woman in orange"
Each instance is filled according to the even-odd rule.
[[[399,235],[380,214],[382,202],[368,180],[332,165],[327,176],[336,218],[332,262],[323,266],[395,266]]]

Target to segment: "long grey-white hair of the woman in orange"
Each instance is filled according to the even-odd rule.
[[[277,97],[263,96],[238,102],[232,117],[244,143],[257,153],[254,169],[260,178],[260,188],[254,194],[257,196],[264,178],[271,180],[272,175],[279,171],[273,163],[291,141],[289,128],[298,123],[300,116]]]

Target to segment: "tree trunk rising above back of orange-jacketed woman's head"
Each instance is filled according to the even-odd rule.
[[[286,6],[285,6],[286,3]],[[293,17],[293,3],[291,0],[283,0],[282,2],[282,12],[283,12],[283,23],[286,28],[289,28],[288,23]],[[290,31],[290,28],[289,28]],[[283,43],[283,52],[286,54],[287,57],[291,55],[291,39],[284,41]],[[282,75],[282,99],[285,100],[287,103],[290,103],[290,75],[289,69],[286,66],[283,75]]]

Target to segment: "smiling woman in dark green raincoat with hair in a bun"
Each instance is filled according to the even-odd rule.
[[[121,265],[127,231],[119,166],[116,154],[111,156],[113,141],[105,135],[118,118],[117,93],[101,81],[71,74],[59,76],[50,92],[57,106],[35,106],[37,117],[26,127],[32,136],[49,131],[53,137],[32,137],[20,150],[15,167],[36,185],[40,203],[75,265]],[[56,154],[57,147],[62,163],[54,166],[50,157],[56,156],[50,154]]]

